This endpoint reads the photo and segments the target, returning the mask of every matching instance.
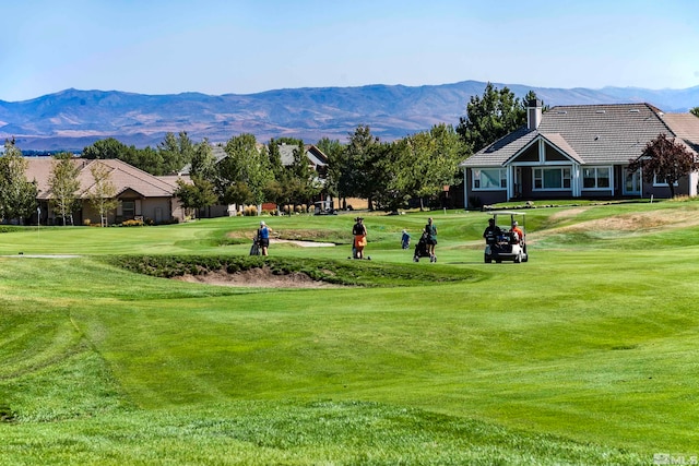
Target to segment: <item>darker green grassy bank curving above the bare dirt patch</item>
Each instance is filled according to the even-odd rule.
[[[484,272],[440,266],[419,267],[413,264],[387,264],[370,261],[336,261],[309,258],[262,258],[249,255],[116,255],[107,261],[121,268],[161,278],[183,275],[205,275],[226,272],[235,274],[251,268],[268,267],[275,275],[303,273],[313,280],[334,285],[390,287],[474,282]]]

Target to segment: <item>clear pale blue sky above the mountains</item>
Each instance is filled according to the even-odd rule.
[[[220,95],[465,80],[699,85],[697,0],[7,3],[0,32],[7,101],[70,87]]]

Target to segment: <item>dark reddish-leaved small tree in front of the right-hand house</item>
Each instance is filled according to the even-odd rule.
[[[687,147],[660,134],[650,141],[643,153],[636,159],[629,160],[629,171],[641,169],[643,181],[653,182],[655,177],[663,180],[670,188],[670,196],[675,196],[675,183],[679,178],[699,168],[699,163]]]

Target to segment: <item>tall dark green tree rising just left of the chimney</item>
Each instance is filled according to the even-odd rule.
[[[526,123],[524,105],[507,86],[498,89],[491,83],[485,86],[483,97],[472,96],[466,105],[466,117],[461,117],[457,127],[469,153],[482,150]]]

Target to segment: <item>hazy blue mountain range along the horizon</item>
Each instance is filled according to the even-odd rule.
[[[534,91],[546,105],[645,101],[666,112],[699,106],[699,86],[686,89],[635,87],[548,88],[506,85],[520,98]],[[429,86],[367,85],[306,87],[258,94],[144,95],[118,91],[67,89],[31,100],[0,100],[0,138],[14,136],[22,150],[81,151],[94,141],[116,138],[125,144],[155,146],[167,132],[187,131],[194,141],[225,142],[240,133],[258,141],[293,136],[315,143],[321,138],[346,140],[358,124],[368,124],[381,140],[454,127],[471,96],[486,83],[463,81]]]

